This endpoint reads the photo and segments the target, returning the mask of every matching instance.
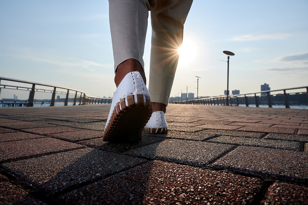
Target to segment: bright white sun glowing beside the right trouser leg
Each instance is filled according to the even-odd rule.
[[[187,65],[196,57],[195,43],[190,39],[183,39],[183,43],[177,52],[180,54],[179,65]]]

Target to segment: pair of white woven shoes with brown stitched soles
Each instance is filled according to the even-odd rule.
[[[140,141],[148,134],[167,133],[163,111],[152,113],[148,88],[138,71],[126,74],[113,93],[103,141]]]

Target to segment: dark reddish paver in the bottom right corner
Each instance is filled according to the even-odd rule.
[[[261,204],[308,204],[308,187],[277,183],[269,187]]]

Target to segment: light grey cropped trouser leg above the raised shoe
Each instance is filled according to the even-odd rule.
[[[109,0],[109,22],[114,57],[114,70],[129,58],[144,69],[144,43],[148,14],[156,0]]]

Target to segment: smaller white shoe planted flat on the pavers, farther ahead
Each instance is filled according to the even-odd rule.
[[[148,134],[166,134],[168,126],[163,111],[156,111],[152,113],[151,118],[144,127],[144,131]]]

